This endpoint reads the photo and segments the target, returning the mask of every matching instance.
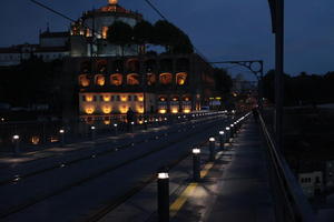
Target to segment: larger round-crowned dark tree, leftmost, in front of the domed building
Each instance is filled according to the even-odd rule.
[[[134,30],[122,21],[115,21],[108,29],[107,40],[112,44],[120,46],[124,56],[124,48],[134,42]]]

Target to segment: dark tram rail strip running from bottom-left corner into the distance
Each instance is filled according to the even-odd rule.
[[[214,120],[213,120],[213,121],[214,121]],[[151,155],[151,154],[154,154],[154,153],[156,153],[156,152],[159,152],[159,151],[161,151],[161,150],[168,149],[169,147],[171,147],[171,145],[174,145],[174,144],[177,144],[177,143],[184,141],[184,140],[186,140],[188,137],[194,137],[194,135],[196,135],[196,134],[203,132],[204,130],[210,129],[210,128],[212,128],[212,122],[213,122],[213,121],[206,122],[206,123],[205,123],[206,125],[205,125],[204,128],[196,129],[196,130],[194,130],[194,132],[191,132],[191,133],[189,133],[189,131],[188,131],[187,137],[183,137],[183,138],[176,139],[176,140],[174,140],[174,141],[168,141],[166,144],[163,144],[161,147],[159,147],[159,148],[157,148],[157,149],[154,149],[154,150],[151,150],[151,151],[149,151],[149,152],[145,152],[145,153],[138,155],[138,157],[134,157],[134,158],[130,158],[130,159],[128,159],[128,160],[125,160],[124,162],[121,162],[121,163],[119,163],[119,164],[110,165],[110,167],[108,167],[108,168],[105,168],[105,169],[102,169],[102,170],[99,170],[99,171],[97,171],[97,172],[95,172],[95,173],[89,174],[89,176],[86,176],[86,178],[82,178],[82,179],[77,180],[77,181],[75,181],[75,182],[68,183],[67,185],[63,185],[63,186],[61,186],[61,188],[59,188],[59,189],[57,189],[57,190],[53,190],[53,191],[51,191],[51,192],[49,192],[49,193],[43,194],[43,195],[35,196],[35,198],[32,198],[32,199],[29,199],[28,201],[21,202],[21,203],[16,204],[16,205],[12,205],[12,206],[8,208],[6,211],[3,211],[3,212],[0,213],[0,219],[4,219],[4,218],[7,218],[7,216],[10,216],[10,215],[12,215],[12,214],[14,214],[14,213],[18,213],[18,212],[20,212],[20,211],[23,211],[24,209],[30,208],[30,206],[37,204],[37,203],[40,203],[40,202],[46,201],[46,200],[48,200],[48,199],[50,199],[50,198],[52,198],[52,196],[56,196],[56,195],[59,195],[59,194],[61,194],[61,193],[63,193],[63,192],[66,192],[66,191],[69,191],[69,190],[71,190],[72,188],[82,185],[82,184],[85,184],[85,183],[87,183],[87,182],[89,182],[89,181],[92,181],[92,180],[95,180],[95,179],[98,179],[98,178],[105,175],[106,173],[109,173],[109,172],[111,172],[111,171],[116,171],[117,169],[119,169],[119,168],[121,168],[121,167],[125,167],[125,165],[127,165],[127,164],[129,164],[129,163],[131,163],[131,162],[134,162],[134,161],[144,159],[144,158],[146,158],[146,157],[148,157],[148,155]]]

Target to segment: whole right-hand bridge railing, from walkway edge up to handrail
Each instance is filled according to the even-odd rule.
[[[263,117],[259,121],[268,144],[269,170],[273,182],[276,220],[278,222],[314,222],[315,214],[285,158],[277,149]]]

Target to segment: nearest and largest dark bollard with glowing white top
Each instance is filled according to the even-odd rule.
[[[158,173],[158,218],[159,222],[169,222],[169,176]]]

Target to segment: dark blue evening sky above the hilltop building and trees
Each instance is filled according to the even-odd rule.
[[[70,18],[98,8],[107,0],[40,0]],[[267,0],[151,0],[167,19],[189,34],[209,61],[263,59],[274,67],[274,36]],[[334,1],[286,0],[285,71],[289,74],[334,71]],[[303,4],[301,4],[303,2]],[[149,21],[159,17],[144,0],[119,0]],[[68,29],[69,21],[29,0],[1,0],[0,47],[37,43],[47,22],[52,31]],[[227,65],[230,68],[230,65]],[[234,73],[243,72],[232,68]]]

